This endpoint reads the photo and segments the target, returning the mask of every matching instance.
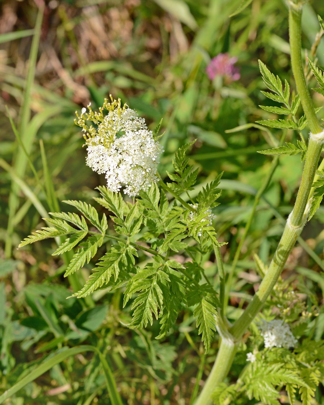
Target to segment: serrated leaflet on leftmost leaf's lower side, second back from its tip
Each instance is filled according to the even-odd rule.
[[[75,273],[80,267],[83,267],[85,262],[89,263],[90,259],[97,253],[98,247],[102,245],[104,235],[96,234],[90,236],[86,241],[79,245],[79,249],[73,255],[64,277]]]

